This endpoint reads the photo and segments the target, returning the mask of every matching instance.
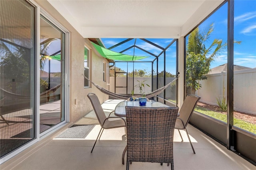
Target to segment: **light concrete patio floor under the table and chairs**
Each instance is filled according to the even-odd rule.
[[[107,100],[102,104],[106,115],[122,100]],[[96,115],[91,111],[75,125],[95,125]],[[256,169],[250,162],[227,150],[200,130],[188,125],[188,132],[196,154],[193,153],[186,132],[174,132],[174,168],[176,170],[245,170]],[[126,146],[125,128],[104,130],[100,141],[90,153],[100,130],[100,125],[90,131],[85,138],[54,138],[33,152],[22,162],[1,165],[2,170],[124,170],[122,152]],[[58,136],[60,133],[56,134]],[[126,160],[126,157],[125,157]],[[11,167],[12,166],[12,167]],[[132,162],[130,170],[169,170],[167,164]]]

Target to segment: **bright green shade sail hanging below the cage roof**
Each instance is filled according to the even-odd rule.
[[[135,60],[146,58],[146,57],[142,57],[142,56],[133,56],[133,55],[117,53],[115,51],[111,51],[109,49],[101,47],[100,45],[97,45],[96,43],[93,43],[93,42],[91,42],[91,43],[95,47],[95,49],[100,53],[100,55],[102,55],[102,57],[105,57],[107,59],[121,60],[121,61],[135,61]]]

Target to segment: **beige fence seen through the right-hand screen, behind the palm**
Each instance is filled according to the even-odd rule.
[[[227,99],[227,72],[209,74],[199,81],[202,87],[196,91],[200,101],[218,105],[217,99]],[[256,68],[234,71],[234,110],[256,115]]]

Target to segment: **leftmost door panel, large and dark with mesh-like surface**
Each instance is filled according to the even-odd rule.
[[[22,0],[0,1],[0,17],[2,158],[35,138],[35,9]]]

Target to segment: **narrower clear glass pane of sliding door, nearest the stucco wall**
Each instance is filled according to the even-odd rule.
[[[40,17],[40,133],[64,121],[64,33]]]

